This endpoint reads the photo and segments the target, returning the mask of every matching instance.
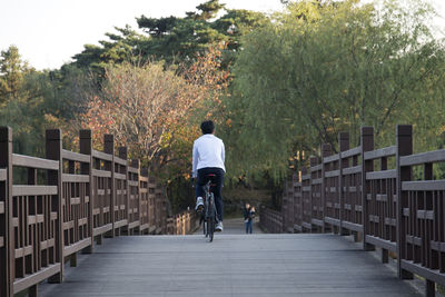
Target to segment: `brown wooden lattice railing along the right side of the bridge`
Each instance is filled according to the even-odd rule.
[[[397,257],[400,278],[425,278],[429,297],[435,284],[445,286],[445,179],[433,175],[445,150],[413,155],[411,126],[397,126],[395,138],[376,149],[374,129],[363,127],[360,145],[349,148],[349,135],[340,132],[339,152],[323,145],[322,158],[294,175],[294,187],[286,184],[281,212],[261,209],[260,224],[274,232],[294,225],[296,232],[354,235],[365,250],[380,248],[383,263],[389,253]]]

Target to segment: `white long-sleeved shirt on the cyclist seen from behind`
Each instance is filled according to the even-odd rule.
[[[224,166],[225,156],[224,142],[215,135],[202,135],[194,142],[194,161],[192,161],[192,176],[197,177],[198,169],[207,167],[221,168],[226,171]]]

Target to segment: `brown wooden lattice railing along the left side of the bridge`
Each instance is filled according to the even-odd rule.
[[[63,280],[67,260],[92,253],[103,236],[167,234],[166,197],[127,148],[103,151],[80,131],[79,152],[62,148],[61,131],[47,130],[46,159],[12,152],[12,130],[0,128],[0,296]],[[20,182],[18,181],[20,180]],[[184,230],[191,228],[187,212]],[[181,230],[182,231],[182,230]]]

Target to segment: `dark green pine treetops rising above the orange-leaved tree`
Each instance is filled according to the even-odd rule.
[[[137,33],[129,26],[116,28],[117,33],[107,33],[109,41],[99,41],[100,46],[87,44],[76,55],[75,65],[79,68],[102,71],[107,65],[128,60],[166,60],[168,63],[194,61],[197,55],[204,55],[209,47],[221,42],[228,44],[224,66],[234,59],[233,53],[239,47],[239,38],[249,30],[260,27],[267,18],[259,12],[230,10],[217,18],[224,9],[218,0],[210,0],[197,7],[197,12],[187,12],[185,18],[166,17],[137,18]],[[217,19],[215,19],[217,18]]]

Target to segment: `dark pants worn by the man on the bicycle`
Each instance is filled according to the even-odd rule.
[[[202,198],[205,197],[204,186],[206,186],[207,181],[209,180],[209,177],[207,177],[208,174],[215,175],[215,177],[211,177],[211,184],[215,184],[216,186],[211,187],[211,190],[215,196],[215,206],[216,206],[216,211],[218,212],[218,219],[222,221],[221,189],[224,182],[224,170],[221,168],[206,167],[198,169],[196,197],[202,197]]]

